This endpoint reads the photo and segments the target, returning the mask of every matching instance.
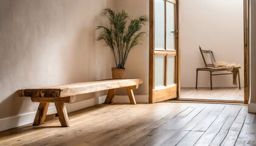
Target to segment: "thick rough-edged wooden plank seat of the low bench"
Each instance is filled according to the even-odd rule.
[[[141,78],[107,79],[94,82],[80,82],[42,88],[20,89],[20,97],[68,97],[107,89],[137,86],[143,83]]]

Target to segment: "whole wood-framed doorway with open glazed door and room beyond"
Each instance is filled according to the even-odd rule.
[[[247,103],[247,0],[235,1],[150,1],[150,103],[168,99]],[[241,66],[218,73],[209,69],[201,72],[209,67],[206,57],[201,56],[207,51],[215,54],[210,56],[210,67],[216,67],[215,58],[215,63],[226,61]]]

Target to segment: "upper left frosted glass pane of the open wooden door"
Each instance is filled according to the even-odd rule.
[[[165,50],[165,1],[155,0],[155,50]]]

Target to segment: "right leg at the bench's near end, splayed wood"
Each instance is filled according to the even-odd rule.
[[[69,127],[68,113],[66,112],[65,103],[55,103],[55,106],[62,127]]]

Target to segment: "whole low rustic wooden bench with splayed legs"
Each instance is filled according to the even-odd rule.
[[[130,103],[136,104],[133,89],[137,89],[138,85],[141,83],[143,83],[141,78],[108,79],[43,88],[21,89],[19,90],[19,95],[20,97],[31,97],[32,102],[40,102],[33,125],[40,125],[44,122],[49,103],[54,102],[62,127],[69,127],[68,113],[66,112],[65,103],[74,102],[76,100],[76,95],[108,90],[105,103],[112,103],[116,89],[126,88]]]

